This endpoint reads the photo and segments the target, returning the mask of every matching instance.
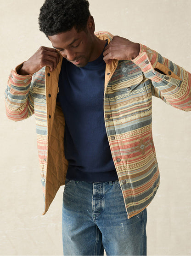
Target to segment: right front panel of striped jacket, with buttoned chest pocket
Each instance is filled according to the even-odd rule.
[[[152,141],[152,82],[132,61],[118,61],[105,94],[106,126],[129,217],[159,186]]]

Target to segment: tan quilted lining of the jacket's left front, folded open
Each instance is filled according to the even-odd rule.
[[[58,78],[62,61],[55,71],[50,72],[49,67],[45,70],[47,121],[48,121],[48,157],[45,189],[45,214],[56,196],[61,185],[65,184],[67,173],[67,160],[64,156],[64,128],[65,120],[62,109],[56,97],[58,92]],[[47,74],[50,73],[50,76]],[[51,94],[51,97],[49,97]],[[51,118],[49,118],[51,115]]]

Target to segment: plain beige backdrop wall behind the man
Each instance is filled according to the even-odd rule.
[[[0,0],[0,254],[62,255],[62,191],[48,213],[37,158],[34,117],[6,118],[4,90],[11,68],[41,45],[44,0]],[[157,50],[191,71],[191,0],[90,0],[96,30],[108,30]],[[148,207],[148,255],[191,255],[191,113],[153,99],[153,135],[161,185]]]

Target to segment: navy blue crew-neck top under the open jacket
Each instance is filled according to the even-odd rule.
[[[58,101],[66,123],[67,179],[88,182],[118,179],[104,123],[105,69],[103,54],[81,68],[62,60]]]

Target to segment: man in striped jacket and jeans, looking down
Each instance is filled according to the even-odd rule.
[[[94,34],[86,0],[46,0],[41,47],[11,71],[6,112],[33,113],[45,212],[65,184],[64,255],[146,255],[146,207],[159,186],[152,95],[191,110],[191,74],[155,51]]]

